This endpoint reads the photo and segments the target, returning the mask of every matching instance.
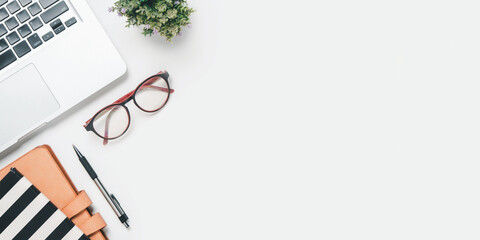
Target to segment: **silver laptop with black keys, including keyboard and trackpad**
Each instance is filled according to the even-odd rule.
[[[0,152],[125,72],[84,0],[0,0]]]

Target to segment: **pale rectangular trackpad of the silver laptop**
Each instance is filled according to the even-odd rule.
[[[60,108],[37,68],[29,64],[0,82],[0,146]]]

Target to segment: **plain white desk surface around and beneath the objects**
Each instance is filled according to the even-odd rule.
[[[52,146],[110,239],[478,239],[475,1],[190,1],[174,44],[88,0],[128,73],[0,161]],[[94,36],[92,36],[94,37]],[[161,112],[82,125],[167,69]],[[126,230],[78,162],[91,161]]]

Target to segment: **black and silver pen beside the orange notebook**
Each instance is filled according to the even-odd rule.
[[[90,166],[90,163],[88,163],[87,159],[78,151],[77,147],[73,145],[73,149],[75,149],[75,152],[78,155],[78,159],[80,160],[80,163],[82,163],[83,167],[87,171],[88,175],[92,178],[92,180],[95,182],[97,185],[98,189],[100,189],[100,192],[102,192],[103,196],[107,200],[108,204],[110,204],[110,207],[112,207],[113,211],[117,215],[118,219],[120,219],[120,222],[125,225],[125,227],[130,227],[128,225],[128,217],[127,214],[123,211],[122,207],[120,206],[120,203],[117,201],[115,196],[113,194],[109,194],[107,192],[107,189],[103,186],[102,182],[100,182],[100,179],[98,179],[97,173],[93,170],[92,166]]]

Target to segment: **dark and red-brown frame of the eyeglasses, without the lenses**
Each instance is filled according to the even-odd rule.
[[[148,77],[147,79],[145,79],[144,81],[142,81],[133,91],[125,94],[123,97],[119,98],[117,101],[113,102],[112,104],[100,109],[97,113],[95,113],[95,115],[93,115],[92,118],[88,119],[88,121],[85,122],[85,125],[83,125],[83,127],[85,128],[85,130],[87,131],[92,131],[93,133],[95,133],[95,135],[99,136],[100,138],[103,139],[103,144],[106,145],[108,143],[108,140],[114,140],[114,139],[117,139],[119,137],[121,137],[123,134],[125,134],[125,132],[127,132],[128,128],[130,127],[130,111],[128,110],[128,108],[125,106],[128,102],[130,102],[131,100],[133,100],[133,102],[135,103],[135,106],[137,106],[140,110],[144,111],[144,112],[149,112],[149,113],[153,113],[153,112],[157,112],[159,111],[160,109],[162,109],[168,102],[168,99],[170,98],[170,93],[173,93],[175,90],[171,89],[170,88],[170,84],[168,83],[168,77],[170,75],[168,74],[167,71],[160,71],[158,72],[157,74],[155,75],[152,75],[150,77]],[[165,80],[165,82],[167,83],[167,88],[163,88],[163,87],[157,87],[157,86],[152,86],[152,85],[145,85],[145,83],[147,83],[148,81],[155,81],[157,80],[158,78],[163,78]],[[165,99],[165,102],[163,102],[163,104],[155,109],[155,110],[145,110],[144,108],[140,107],[140,105],[137,103],[136,99],[135,99],[135,94],[140,90],[140,89],[143,89],[141,88],[142,86],[149,86],[149,87],[152,87],[152,88],[156,88],[156,89],[160,89],[161,91],[164,91],[164,92],[167,92],[168,95],[167,95],[167,98]],[[93,122],[92,121],[93,119],[95,119],[101,112],[103,112],[105,109],[108,109],[108,108],[111,108],[111,107],[123,107],[126,112],[127,112],[127,115],[128,115],[128,125],[127,127],[125,128],[125,130],[118,136],[116,137],[111,137],[109,138],[108,137],[108,132],[106,131],[105,134],[107,137],[104,137],[102,135],[100,135],[96,130],[95,128],[93,127]],[[108,119],[109,119],[110,115],[107,116],[107,121],[106,121],[106,124],[107,126],[105,127],[106,130],[108,130]]]

